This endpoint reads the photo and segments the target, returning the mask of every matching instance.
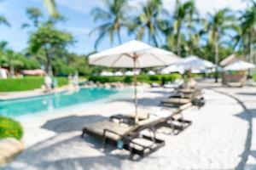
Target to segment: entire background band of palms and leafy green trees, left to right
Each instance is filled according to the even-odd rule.
[[[137,2],[135,0],[131,0]],[[202,15],[194,0],[176,0],[173,9],[164,0],[140,1],[136,7],[127,0],[102,0],[91,11],[96,28],[97,49],[103,39],[121,43],[126,34],[185,57],[190,54],[218,62],[236,53],[249,62],[256,62],[256,3],[247,0],[247,9],[232,11],[223,8]],[[25,69],[43,68],[55,76],[97,74],[106,68],[89,66],[87,56],[69,52],[75,44],[73,36],[61,31],[56,24],[63,20],[54,0],[42,0],[49,15],[34,7],[26,9],[28,23],[21,27],[29,35],[28,47],[22,52],[0,42],[0,66],[9,69],[11,76]],[[0,26],[11,26],[0,14]]]

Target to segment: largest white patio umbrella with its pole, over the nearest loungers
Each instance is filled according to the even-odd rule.
[[[89,56],[90,65],[102,65],[114,68],[132,68],[134,71],[134,102],[135,122],[137,116],[137,74],[140,68],[171,65],[180,61],[177,55],[170,51],[154,48],[144,42],[125,42],[117,47],[109,48],[97,54]]]

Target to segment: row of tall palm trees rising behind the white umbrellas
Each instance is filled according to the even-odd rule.
[[[129,5],[124,3],[119,8],[119,14],[122,14],[121,19],[129,19],[122,20],[123,34],[126,31],[131,37],[167,48],[180,56],[195,54],[218,64],[221,59],[236,53],[250,62],[256,62],[256,3],[253,0],[247,2],[246,11],[223,8],[202,16],[194,0],[176,0],[174,10],[164,7],[163,0],[148,0],[132,14],[122,13],[125,10],[123,7]],[[108,0],[108,7],[114,4],[114,0]],[[101,11],[103,8],[93,11]],[[112,13],[112,18],[119,14]],[[101,26],[105,22],[108,26],[114,26],[108,22],[110,18],[105,20],[106,16],[107,13],[97,15],[97,19],[102,20]],[[101,38],[102,34],[104,37],[108,35],[113,43],[113,30],[96,31]]]

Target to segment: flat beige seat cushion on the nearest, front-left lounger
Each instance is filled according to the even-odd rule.
[[[111,130],[115,133],[118,133],[119,135],[115,133],[106,132],[106,137],[113,140],[119,140],[122,139],[123,135],[129,133],[134,127],[128,126],[123,123],[119,124],[116,122],[110,122],[106,120],[102,122],[91,123],[89,125],[86,125],[84,128],[86,128],[87,131],[90,131],[90,133],[96,133],[97,135],[102,137],[104,129]]]

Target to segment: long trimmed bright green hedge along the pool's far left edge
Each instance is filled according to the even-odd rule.
[[[58,85],[68,84],[66,77],[57,77]],[[23,77],[0,79],[0,92],[26,91],[41,88],[44,84],[44,77]]]

